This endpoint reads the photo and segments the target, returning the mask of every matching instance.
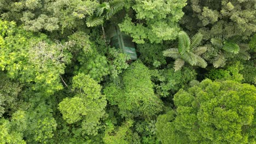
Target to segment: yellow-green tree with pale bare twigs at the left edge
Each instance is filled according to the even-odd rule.
[[[0,21],[0,25],[0,68],[8,77],[34,82],[32,89],[47,96],[62,89],[59,75],[70,62],[67,48],[71,45],[53,43],[46,35],[26,32],[13,22]]]

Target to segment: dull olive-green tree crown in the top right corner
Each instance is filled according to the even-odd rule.
[[[256,32],[254,0],[189,0],[184,12],[182,25],[191,32],[201,32],[203,39],[220,35],[248,39]]]

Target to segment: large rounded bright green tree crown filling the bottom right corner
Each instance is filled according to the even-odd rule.
[[[254,143],[256,88],[234,81],[203,80],[174,95],[176,110],[160,115],[162,143]]]

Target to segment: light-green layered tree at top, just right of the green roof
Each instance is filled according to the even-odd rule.
[[[136,12],[136,17],[126,15],[119,24],[121,31],[130,34],[137,44],[161,43],[162,40],[176,39],[179,26],[178,21],[184,15],[182,8],[187,0],[128,0],[129,6]],[[130,3],[130,5],[129,5]]]

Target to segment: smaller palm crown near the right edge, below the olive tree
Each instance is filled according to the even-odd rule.
[[[218,55],[214,57],[213,66],[215,68],[223,67],[227,58],[237,57],[238,59],[248,60],[251,58],[247,50],[249,47],[245,44],[235,44],[222,38],[212,38],[211,43],[219,49]]]

